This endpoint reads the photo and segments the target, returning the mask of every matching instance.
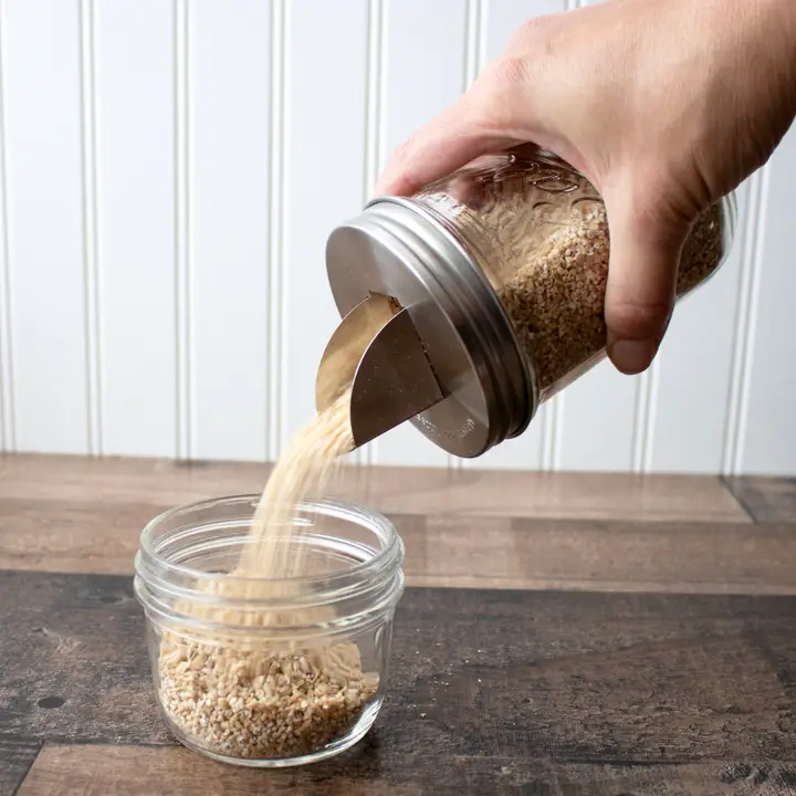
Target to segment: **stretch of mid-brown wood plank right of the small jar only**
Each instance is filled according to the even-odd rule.
[[[796,525],[406,520],[412,586],[796,594]]]

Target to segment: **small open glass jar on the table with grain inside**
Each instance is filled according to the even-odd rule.
[[[291,544],[306,574],[238,576],[258,501],[223,498],[153,520],[135,591],[176,737],[226,763],[301,765],[350,747],[376,720],[404,545],[379,514],[302,504]]]

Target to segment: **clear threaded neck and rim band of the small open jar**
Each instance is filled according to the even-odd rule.
[[[135,559],[134,590],[154,627],[193,640],[287,642],[359,632],[395,610],[404,593],[404,542],[386,516],[344,501],[294,506],[296,512],[338,520],[342,526],[376,537],[373,544],[369,536],[363,543],[357,534],[326,528],[301,535],[302,544],[322,553],[347,554],[346,565],[336,572],[259,578],[184,563],[198,556],[210,566],[218,562],[223,567],[227,558],[216,556],[232,553],[234,567],[237,555],[249,543],[249,510],[259,501],[260,495],[252,494],[202,500],[169,509],[147,523]],[[231,588],[216,590],[221,580]]]

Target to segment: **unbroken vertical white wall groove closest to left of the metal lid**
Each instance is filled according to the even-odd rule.
[[[269,187],[269,458],[275,460],[284,434],[282,390],[283,362],[283,291],[284,291],[284,128],[285,71],[287,46],[287,0],[271,3],[271,174]]]

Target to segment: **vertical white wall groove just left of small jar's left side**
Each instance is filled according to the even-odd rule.
[[[94,2],[81,0],[81,105],[83,115],[83,248],[85,259],[86,405],[88,452],[103,453],[100,336],[100,270],[97,263],[96,104]]]

